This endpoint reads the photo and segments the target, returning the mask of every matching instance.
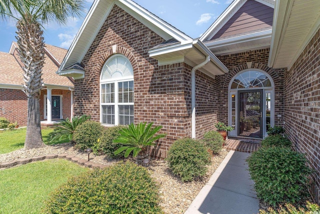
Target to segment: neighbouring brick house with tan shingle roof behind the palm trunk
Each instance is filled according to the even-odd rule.
[[[40,96],[40,119],[43,125],[52,124],[54,120],[67,118],[72,114],[73,80],[55,73],[66,52],[62,48],[45,46],[42,69],[44,88]],[[12,43],[9,53],[0,52],[0,117],[25,126],[27,97],[22,92],[23,70],[17,53],[16,43]]]

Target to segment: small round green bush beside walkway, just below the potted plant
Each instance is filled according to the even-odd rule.
[[[217,131],[209,131],[203,136],[203,143],[213,154],[218,154],[221,151],[223,142],[223,137]]]

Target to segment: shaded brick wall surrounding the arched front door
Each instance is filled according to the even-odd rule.
[[[267,66],[269,49],[247,51],[237,54],[217,56],[229,69],[229,73],[221,77],[221,105],[220,118],[222,122],[228,122],[228,87],[231,79],[239,72],[247,69],[247,62],[252,62],[251,68],[265,71],[274,82],[274,125],[283,126],[283,71],[284,69],[272,69]],[[281,117],[277,117],[281,115]]]

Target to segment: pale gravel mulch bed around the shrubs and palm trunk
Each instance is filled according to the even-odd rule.
[[[64,153],[75,154],[75,156],[82,159],[87,158],[87,154],[85,152],[74,149],[70,143],[64,143],[29,150],[18,149],[10,153],[0,154],[0,163],[46,154]],[[147,169],[150,171],[151,176],[161,183],[159,192],[161,197],[160,205],[163,207],[163,211],[166,214],[184,213],[200,189],[205,185],[210,176],[220,165],[227,153],[227,150],[222,149],[219,155],[211,157],[211,165],[208,166],[208,172],[202,179],[185,183],[182,183],[178,177],[174,176],[170,172],[165,161],[151,160]],[[104,165],[111,165],[116,163],[118,160],[90,154],[90,161]]]

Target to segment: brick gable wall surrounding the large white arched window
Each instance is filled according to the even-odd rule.
[[[166,137],[152,155],[166,157],[178,138],[190,136],[190,68],[183,63],[158,66],[148,57],[148,49],[164,40],[123,10],[114,6],[83,58],[83,79],[75,81],[74,114],[88,114],[100,120],[99,78],[105,61],[115,53],[131,62],[134,73],[134,122],[162,125]]]

